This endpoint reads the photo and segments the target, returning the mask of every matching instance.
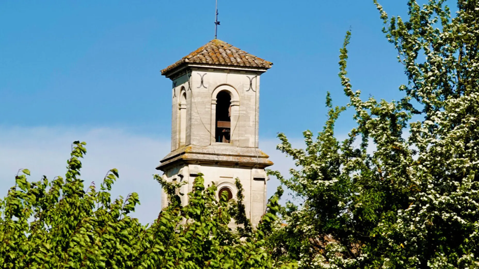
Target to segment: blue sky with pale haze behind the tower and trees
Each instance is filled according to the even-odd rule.
[[[380,2],[389,15],[406,16],[406,0]],[[218,8],[219,39],[274,63],[262,75],[260,147],[284,172],[292,163],[274,150],[276,133],[300,145],[304,130],[322,128],[326,91],[334,104],[348,101],[337,62],[350,27],[354,89],[363,98],[403,96],[403,66],[372,0],[219,0]],[[142,217],[154,217],[160,199],[151,174],[169,151],[171,128],[171,82],[160,69],[214,37],[214,9],[214,0],[1,1],[0,191],[18,168],[36,168],[35,180],[42,169],[63,173],[70,143],[80,139],[94,160],[87,181],[120,166],[129,176],[117,191],[138,191],[144,201],[143,192]],[[353,126],[351,115],[340,118],[339,135]],[[277,182],[270,185],[271,193]]]

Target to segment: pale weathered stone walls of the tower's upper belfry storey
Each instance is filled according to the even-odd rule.
[[[228,70],[193,70],[173,80],[171,150],[179,146],[179,101],[182,87],[186,89],[186,145],[208,146],[215,143],[216,95],[231,92],[231,142],[234,146],[258,147],[259,84],[254,73],[228,73]],[[202,83],[203,78],[203,83]],[[251,78],[251,87],[250,87]],[[191,89],[190,89],[191,87]]]

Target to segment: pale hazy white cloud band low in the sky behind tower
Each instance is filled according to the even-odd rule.
[[[117,168],[120,179],[114,184],[112,198],[117,195],[125,197],[136,191],[141,205],[132,215],[143,224],[157,217],[161,188],[152,175],[161,173],[155,167],[170,151],[170,138],[155,139],[129,134],[122,129],[0,127],[0,196],[5,196],[15,184],[14,177],[22,168],[30,169],[31,181],[39,180],[43,175],[48,179],[64,176],[71,143],[75,140],[87,142],[87,154],[81,169],[85,185],[94,181],[99,186],[107,171]],[[291,158],[276,150],[278,143],[276,138],[260,139],[260,148],[275,163],[271,168],[287,176],[294,164]],[[297,144],[298,141],[293,141],[293,145]],[[269,180],[268,196],[278,185],[277,179]]]

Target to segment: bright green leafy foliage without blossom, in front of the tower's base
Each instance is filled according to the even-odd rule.
[[[29,170],[0,200],[0,266],[2,268],[271,268],[265,237],[277,219],[278,189],[257,229],[244,217],[242,188],[238,201],[227,202],[216,187],[194,180],[189,203],[182,207],[178,185],[154,178],[169,193],[169,205],[151,225],[128,214],[139,204],[137,193],[112,201],[118,178],[111,169],[100,185],[85,191],[80,158],[86,143],[73,143],[65,179],[45,177],[29,182]],[[242,229],[228,229],[231,216]]]

